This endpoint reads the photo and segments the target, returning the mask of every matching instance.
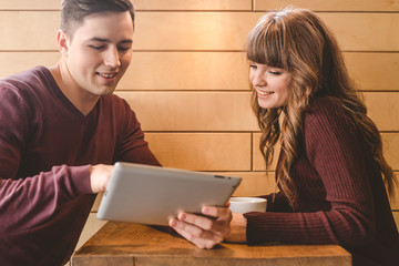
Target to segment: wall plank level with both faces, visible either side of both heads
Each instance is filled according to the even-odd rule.
[[[399,53],[344,53],[348,69],[365,91],[399,91]],[[53,65],[59,52],[0,52],[0,78]],[[228,74],[221,70],[228,69]],[[150,74],[154,73],[154,74]],[[155,74],[156,73],[156,74]],[[378,78],[377,78],[378,76]],[[120,90],[249,90],[244,52],[134,51]]]

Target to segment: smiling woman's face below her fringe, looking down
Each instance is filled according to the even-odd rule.
[[[263,109],[277,109],[287,104],[291,75],[288,71],[250,62],[249,80]]]

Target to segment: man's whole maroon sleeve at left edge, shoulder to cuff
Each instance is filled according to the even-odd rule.
[[[69,201],[92,194],[89,165],[54,166],[34,176],[18,176],[23,150],[34,135],[32,112],[19,91],[0,84],[0,232],[42,224]]]

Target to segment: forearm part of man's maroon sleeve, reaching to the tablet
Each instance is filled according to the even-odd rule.
[[[60,165],[31,177],[0,178],[1,234],[40,226],[66,202],[92,194],[89,167]]]

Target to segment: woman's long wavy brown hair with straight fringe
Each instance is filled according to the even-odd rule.
[[[258,21],[247,41],[249,61],[282,68],[291,74],[290,96],[280,109],[262,109],[253,91],[253,110],[262,130],[259,149],[268,171],[274,146],[282,141],[285,153],[277,168],[277,184],[295,208],[296,185],[290,167],[298,156],[304,131],[304,112],[315,98],[329,96],[352,117],[370,147],[374,160],[393,195],[396,176],[382,155],[381,137],[357,85],[350,79],[335,37],[311,11],[285,9]]]

